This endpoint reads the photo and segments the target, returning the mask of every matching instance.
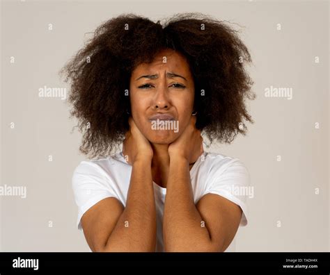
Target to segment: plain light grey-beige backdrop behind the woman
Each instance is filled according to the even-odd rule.
[[[239,228],[236,251],[329,251],[327,1],[2,1],[1,185],[25,186],[27,197],[0,196],[0,251],[88,251],[71,190],[85,158],[81,135],[71,133],[65,101],[40,98],[38,89],[68,88],[59,69],[105,20],[194,11],[242,26],[233,24],[253,58],[256,123],[210,149],[240,158],[251,174],[249,226]],[[271,85],[292,88],[292,100],[265,97]]]

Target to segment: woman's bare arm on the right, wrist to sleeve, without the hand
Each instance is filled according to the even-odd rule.
[[[171,158],[163,221],[166,251],[224,251],[241,215],[239,206],[217,194],[206,194],[195,206],[189,163]]]

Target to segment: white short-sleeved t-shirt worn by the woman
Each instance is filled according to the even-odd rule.
[[[107,197],[115,197],[126,205],[132,165],[129,165],[123,153],[116,153],[98,160],[84,160],[74,170],[72,188],[78,206],[77,226],[81,229],[80,219],[97,202]],[[219,153],[204,152],[190,170],[194,202],[197,203],[207,193],[218,194],[233,201],[242,208],[240,226],[247,224],[246,188],[250,176],[244,164],[238,158],[230,158]],[[153,182],[157,208],[157,244],[156,251],[164,251],[162,238],[162,216],[166,188]],[[235,239],[226,249],[235,251]]]

